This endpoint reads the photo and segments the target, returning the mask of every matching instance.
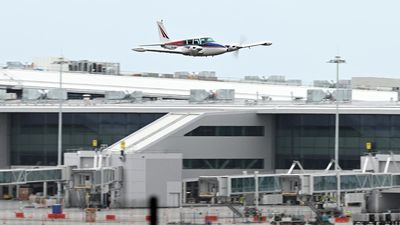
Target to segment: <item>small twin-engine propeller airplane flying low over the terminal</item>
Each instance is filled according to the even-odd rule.
[[[136,52],[161,52],[181,54],[186,56],[215,56],[227,52],[238,53],[239,49],[251,48],[255,46],[270,46],[272,42],[262,41],[252,44],[232,44],[222,45],[214,41],[211,37],[189,38],[184,40],[171,40],[167,31],[165,30],[163,21],[157,21],[158,33],[160,35],[160,42],[157,44],[140,45],[139,48],[132,49]],[[160,46],[162,48],[143,48]]]

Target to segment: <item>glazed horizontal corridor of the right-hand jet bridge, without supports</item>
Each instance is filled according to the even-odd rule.
[[[341,172],[342,192],[400,188],[400,173]],[[258,186],[256,186],[256,183]],[[336,192],[336,173],[268,174],[199,177],[200,197],[241,194],[307,194]]]

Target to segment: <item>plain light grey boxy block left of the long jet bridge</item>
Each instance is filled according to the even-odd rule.
[[[156,196],[160,207],[177,207],[181,195],[181,154],[127,154],[125,160],[112,155],[112,166],[123,166],[123,207],[147,207]],[[178,199],[179,200],[179,199]]]

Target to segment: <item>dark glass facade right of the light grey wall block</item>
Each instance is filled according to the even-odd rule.
[[[400,152],[400,115],[340,115],[339,161],[344,169],[360,167],[365,144],[373,151]],[[299,160],[306,169],[325,168],[334,158],[334,115],[276,115],[276,168]]]

